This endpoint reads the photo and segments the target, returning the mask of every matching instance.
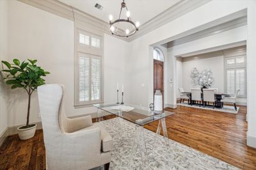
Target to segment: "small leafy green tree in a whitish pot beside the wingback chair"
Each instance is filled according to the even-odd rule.
[[[29,62],[23,61],[20,63],[19,59],[13,59],[13,63],[2,61],[7,67],[2,72],[7,72],[6,84],[11,85],[11,89],[23,88],[28,93],[28,114],[26,125],[18,127],[18,134],[20,139],[25,140],[33,137],[36,131],[36,124],[29,124],[29,111],[31,95],[38,86],[45,84],[45,80],[42,76],[47,75],[49,72],[45,72],[40,66],[36,66],[36,59],[28,59]]]

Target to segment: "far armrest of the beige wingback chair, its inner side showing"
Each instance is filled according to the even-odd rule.
[[[67,132],[76,132],[82,128],[92,126],[92,116],[82,116],[78,118],[67,118]]]

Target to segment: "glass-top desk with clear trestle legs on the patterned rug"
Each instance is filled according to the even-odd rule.
[[[133,125],[135,125],[135,133],[132,135],[132,133],[129,133],[127,135],[132,135],[129,136],[127,139],[132,139],[134,142],[132,144],[132,151],[130,154],[130,160],[132,158],[132,155],[137,153],[138,150],[140,150],[140,155],[141,155],[141,160],[143,161],[146,159],[146,161],[149,161],[148,153],[147,153],[147,143],[145,141],[144,137],[144,130],[143,130],[143,125],[147,125],[148,123],[152,123],[154,121],[158,121],[158,126],[157,126],[157,131],[156,131],[156,136],[159,137],[161,131],[163,131],[163,137],[164,141],[166,141],[166,148],[168,148],[168,133],[167,133],[167,128],[166,128],[166,123],[165,123],[165,118],[168,116],[171,116],[174,114],[174,112],[169,112],[169,111],[163,111],[159,113],[154,113],[154,111],[146,111],[143,109],[140,109],[139,106],[134,106],[134,105],[121,105],[121,104],[95,104],[93,105],[94,107],[97,107],[97,120],[100,121],[102,120],[103,117],[103,112],[107,112],[109,114],[113,114],[118,118],[118,124],[116,125],[116,129],[118,134],[120,135],[120,138],[124,135],[124,125],[122,125],[122,120],[127,120],[132,122]],[[118,128],[120,127],[120,128]],[[152,150],[154,149],[154,145],[156,144],[156,139],[157,137],[154,137],[154,141],[152,142]],[[130,161],[129,161],[130,162]],[[146,162],[144,162],[147,164]],[[142,166],[145,166],[143,163]]]

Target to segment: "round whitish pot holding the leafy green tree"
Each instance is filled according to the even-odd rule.
[[[30,139],[31,137],[33,137],[35,135],[36,124],[30,124],[30,125],[31,125],[31,127],[28,127],[28,128],[22,128],[25,125],[22,125],[17,128],[18,134],[19,134],[19,137],[21,140]]]

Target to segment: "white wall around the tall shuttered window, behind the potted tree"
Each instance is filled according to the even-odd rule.
[[[38,65],[51,72],[47,83],[65,86],[67,116],[96,112],[94,107],[74,108],[74,22],[39,10],[19,1],[9,3],[9,60],[38,59]],[[116,82],[125,84],[125,54],[127,42],[104,35],[104,100],[115,102]],[[109,81],[110,80],[110,81]],[[114,94],[114,95],[112,95]],[[10,127],[26,123],[28,98],[24,91],[10,90]],[[38,118],[38,100],[34,93],[31,102],[31,122]]]

